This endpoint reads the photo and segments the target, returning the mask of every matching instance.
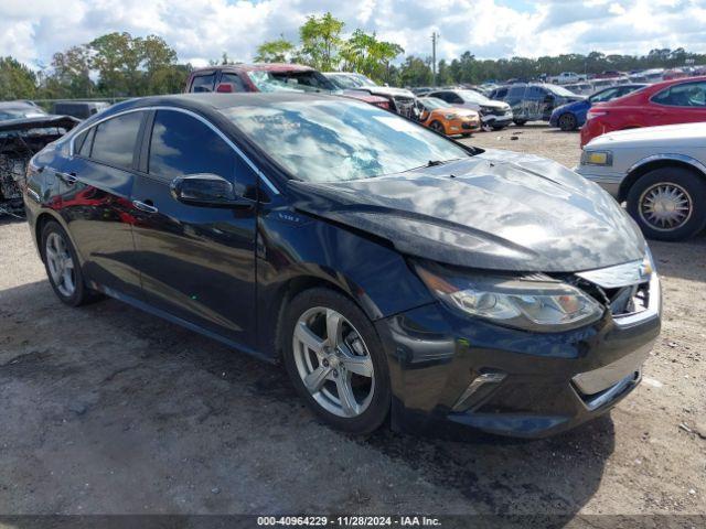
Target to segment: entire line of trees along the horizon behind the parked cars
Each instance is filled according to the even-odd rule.
[[[356,29],[344,36],[345,24],[330,12],[310,15],[299,28],[299,41],[279,39],[260,44],[257,62],[287,62],[317,69],[357,72],[393,86],[430,86],[430,57],[408,55],[394,42]],[[227,64],[224,53],[211,64]],[[706,64],[706,54],[684,48],[652,50],[645,55],[606,55],[600,52],[561,54],[537,58],[477,58],[470,51],[437,64],[437,85],[478,84],[509,78],[536,78],[560,72],[597,74],[608,69],[632,71]],[[118,98],[173,94],[183,89],[192,71],[160,36],[132,36],[114,32],[52,56],[51,65],[32,69],[13,57],[0,57],[0,100]]]

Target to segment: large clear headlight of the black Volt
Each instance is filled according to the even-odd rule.
[[[419,277],[448,306],[500,325],[539,333],[568,331],[600,320],[603,306],[560,281],[453,276],[417,264]]]

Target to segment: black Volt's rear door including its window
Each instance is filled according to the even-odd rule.
[[[61,214],[94,287],[138,298],[130,194],[146,111],[130,111],[79,133],[74,155],[56,172]]]

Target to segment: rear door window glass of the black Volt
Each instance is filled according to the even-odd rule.
[[[90,158],[98,162],[130,169],[142,115],[143,112],[125,114],[97,125]],[[88,142],[84,142],[86,143]]]

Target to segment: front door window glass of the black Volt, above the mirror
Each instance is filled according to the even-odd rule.
[[[233,182],[236,156],[211,128],[183,112],[158,110],[150,140],[149,172],[168,180],[197,173]]]

